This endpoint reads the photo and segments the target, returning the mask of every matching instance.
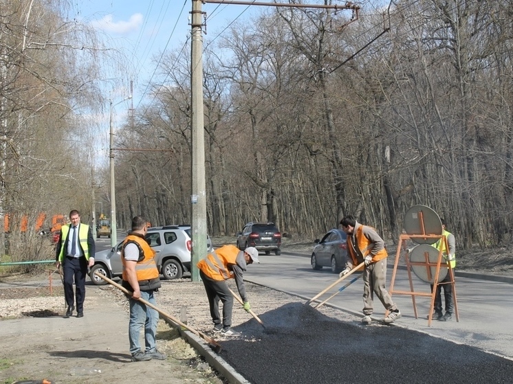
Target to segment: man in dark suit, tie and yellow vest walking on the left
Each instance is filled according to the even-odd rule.
[[[66,299],[66,316],[73,315],[75,295],[73,281],[76,285],[76,317],[84,316],[85,276],[87,268],[94,265],[95,244],[91,227],[80,223],[77,210],[69,212],[71,224],[61,227],[61,234],[56,247],[57,268],[62,264],[64,273],[64,297]]]

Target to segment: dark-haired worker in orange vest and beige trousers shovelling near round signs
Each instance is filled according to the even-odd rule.
[[[342,231],[347,235],[347,249],[349,256],[344,271],[340,277],[346,275],[359,264],[365,262],[362,275],[363,280],[363,314],[362,323],[370,324],[373,313],[373,295],[375,293],[382,302],[389,315],[384,318],[385,323],[391,323],[401,317],[400,311],[392,301],[385,288],[386,282],[386,249],[384,241],[372,227],[362,225],[353,216],[345,216],[340,221]]]

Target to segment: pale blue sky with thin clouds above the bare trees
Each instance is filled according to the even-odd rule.
[[[111,47],[121,48],[131,60],[125,76],[133,80],[133,106],[137,109],[147,98],[147,84],[155,75],[162,52],[170,49],[190,50],[190,11],[192,0],[81,0],[74,1],[69,16],[100,32]],[[258,8],[258,9],[255,9]],[[262,6],[204,3],[207,34],[204,44],[234,20],[241,21],[258,13]],[[257,12],[258,11],[258,12]],[[106,80],[108,82],[108,80]],[[116,91],[112,99],[123,100],[127,89]],[[126,94],[122,94],[126,93]]]

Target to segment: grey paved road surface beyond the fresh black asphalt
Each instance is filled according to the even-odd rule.
[[[393,265],[394,257],[389,257],[389,264]],[[292,256],[291,253],[284,253],[278,257],[261,255],[260,259],[261,264],[252,265],[251,270],[245,274],[246,280],[307,299],[323,291],[338,278],[326,268],[322,271],[314,271],[309,264],[308,255]],[[387,287],[389,287],[391,275],[392,269],[389,269]],[[429,291],[428,284],[416,277],[413,284],[415,291]],[[406,271],[397,271],[394,289],[409,291]],[[336,288],[320,299],[329,297],[334,291]],[[431,326],[428,326],[426,315],[430,304],[429,297],[417,297],[419,318],[415,319],[411,296],[394,295],[393,300],[402,312],[402,319],[397,321],[397,325],[426,332],[455,343],[476,346],[481,350],[513,359],[513,285],[472,278],[456,278],[456,291],[459,322],[453,317],[452,321],[432,321]],[[361,280],[336,295],[329,303],[349,312],[361,314],[363,308]],[[384,308],[379,301],[375,302],[374,315],[376,318],[384,316]]]

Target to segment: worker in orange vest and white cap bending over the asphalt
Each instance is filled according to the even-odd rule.
[[[214,332],[221,332],[226,336],[237,335],[232,326],[233,295],[226,284],[226,280],[235,279],[239,295],[243,301],[243,308],[250,310],[250,302],[245,293],[243,273],[248,264],[259,263],[259,251],[248,247],[240,251],[234,245],[223,245],[197,263],[199,275],[205,286],[210,316],[214,322]],[[219,300],[223,303],[223,318],[219,316]]]

